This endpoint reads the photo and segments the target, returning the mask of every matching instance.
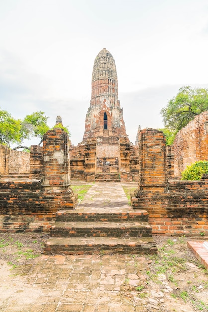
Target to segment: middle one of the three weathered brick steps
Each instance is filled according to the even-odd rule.
[[[56,222],[51,236],[150,237],[152,227],[147,222]]]

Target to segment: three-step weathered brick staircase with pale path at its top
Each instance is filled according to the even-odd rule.
[[[112,185],[95,184],[88,191],[88,196],[100,184]],[[111,188],[115,196],[115,189]],[[92,205],[88,199],[75,210],[59,210],[56,213],[51,237],[45,243],[46,254],[157,253],[147,211],[133,210],[127,205],[127,198],[123,201],[121,197],[112,202],[106,195],[100,197],[105,198],[105,203],[94,198]]]

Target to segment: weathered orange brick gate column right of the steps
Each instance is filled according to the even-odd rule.
[[[132,206],[147,209],[148,206],[153,205],[154,201],[159,204],[160,194],[167,190],[166,145],[163,132],[152,128],[141,130],[139,133],[139,183],[132,195]]]

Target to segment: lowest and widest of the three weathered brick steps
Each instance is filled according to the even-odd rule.
[[[152,237],[50,237],[45,254],[156,254]]]

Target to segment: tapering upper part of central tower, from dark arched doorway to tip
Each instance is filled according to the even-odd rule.
[[[83,141],[89,137],[124,136],[123,110],[118,100],[118,78],[112,54],[105,48],[94,61],[92,95]]]

